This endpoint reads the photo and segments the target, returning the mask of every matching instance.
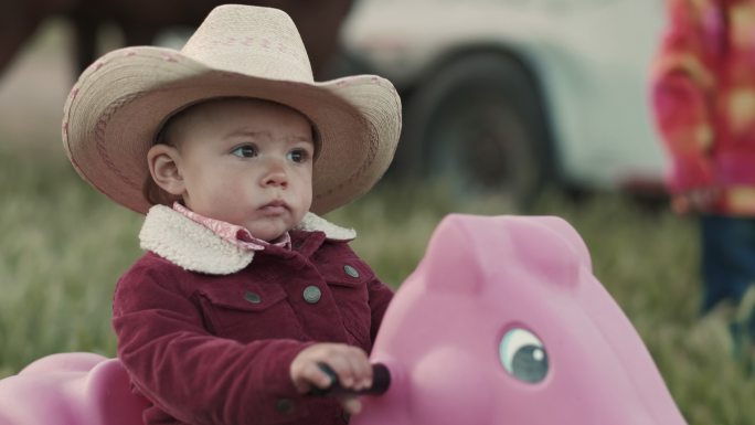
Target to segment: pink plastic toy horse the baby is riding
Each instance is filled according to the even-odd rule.
[[[557,217],[449,215],[371,360],[352,425],[685,425],[640,337]],[[114,359],[55,354],[0,381],[0,425],[141,425]]]

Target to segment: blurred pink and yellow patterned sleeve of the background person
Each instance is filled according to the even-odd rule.
[[[721,8],[710,1],[668,0],[668,29],[651,74],[657,127],[671,157],[669,189],[714,183],[713,105],[725,43]]]

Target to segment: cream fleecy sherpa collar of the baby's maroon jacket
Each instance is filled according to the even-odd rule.
[[[323,232],[333,241],[351,241],[357,232],[307,213],[294,230]],[[168,259],[190,272],[230,275],[248,266],[254,251],[244,249],[224,240],[210,229],[164,205],[155,205],[147,213],[139,233],[141,248]]]

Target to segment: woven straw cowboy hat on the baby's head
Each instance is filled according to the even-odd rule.
[[[210,12],[181,51],[126,47],[92,64],[65,104],[63,145],[84,180],[146,213],[151,206],[142,193],[147,151],[163,123],[203,99],[240,96],[288,105],[315,125],[315,213],[365,193],[393,158],[401,100],[387,79],[315,82],[285,12],[236,4]]]

